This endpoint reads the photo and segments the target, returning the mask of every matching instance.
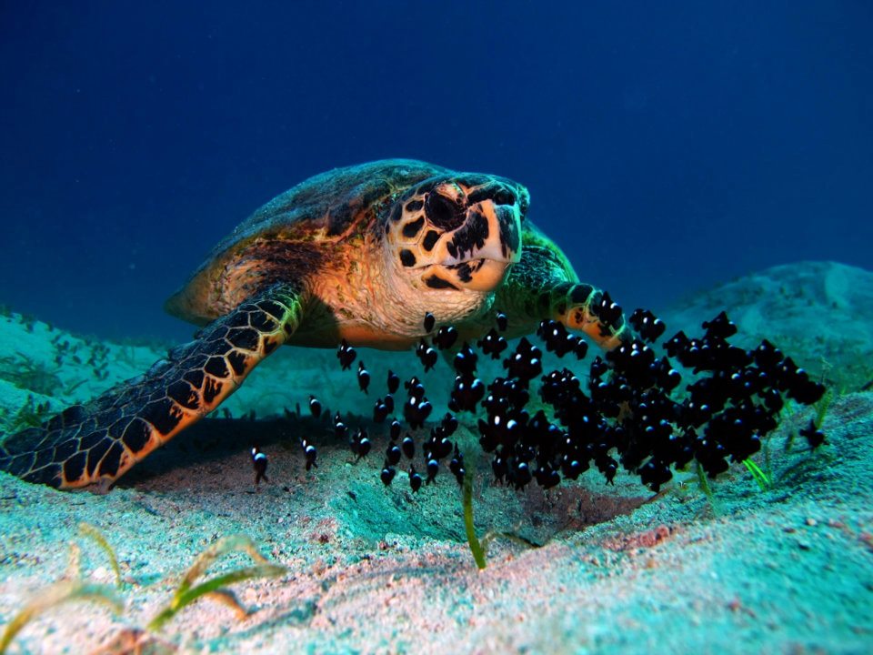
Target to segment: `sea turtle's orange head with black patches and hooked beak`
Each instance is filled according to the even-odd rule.
[[[504,177],[431,177],[390,208],[387,256],[423,290],[491,291],[521,258],[528,202],[527,188]]]

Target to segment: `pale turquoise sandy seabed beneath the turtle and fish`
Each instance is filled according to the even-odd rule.
[[[815,412],[787,410],[768,439],[768,456],[756,458],[770,474],[770,489],[758,489],[735,466],[712,484],[712,499],[691,472],[677,472],[657,496],[637,477],[620,474],[607,486],[591,471],[547,492],[535,485],[517,492],[493,484],[481,458],[477,532],[497,535],[482,571],[467,547],[460,491],[447,472],[416,494],[402,471],[385,487],[378,479],[384,427],[370,426],[373,453],[356,462],[329,423],[296,413],[296,403],[316,393],[326,405],[363,417],[383,391],[374,384],[363,397],[351,389],[353,378],[338,371],[333,352],[287,348],[227,404],[236,418],[219,410],[222,418],[186,431],[105,495],[58,492],[0,473],[0,622],[73,575],[71,544],[80,551],[79,577],[114,584],[103,549],[80,535],[82,522],[115,549],[124,581],[119,615],[94,603],[66,603],[28,623],[8,652],[133,652],[125,638],[166,605],[200,552],[233,534],[252,539],[286,574],[232,587],[248,610],[244,619],[201,599],[163,629],[143,633],[143,651],[871,652],[873,393],[859,390],[873,370],[873,320],[865,313],[873,311],[871,279],[832,264],[778,267],[664,313],[672,330],[693,329],[720,301],[748,338],[776,332],[799,359],[808,358],[811,373],[828,378],[834,390],[823,426],[828,444],[811,453],[796,438],[787,450],[789,436]],[[806,295],[797,296],[798,289]],[[810,334],[809,317],[823,311],[853,323]],[[70,345],[55,362],[63,341]],[[0,317],[6,357],[0,406],[18,408],[35,394],[15,378],[21,367],[10,368],[17,353],[45,361],[55,375],[60,392],[35,395],[55,408],[132,377],[159,356],[146,346],[103,347],[105,363],[83,367],[70,351],[81,362],[94,342],[16,315]],[[420,375],[411,355],[361,351],[361,357],[374,380],[389,367]],[[103,379],[91,368],[105,370]],[[437,369],[423,380],[436,389],[447,375]],[[240,418],[252,408],[255,420]],[[318,447],[318,467],[309,472],[302,437]],[[476,440],[466,425],[457,438]],[[270,458],[269,482],[257,488],[253,443]],[[210,574],[249,563],[243,553],[229,554]]]

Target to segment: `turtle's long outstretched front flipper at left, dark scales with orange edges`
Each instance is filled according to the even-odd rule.
[[[218,407],[294,333],[300,314],[299,294],[284,285],[249,298],[145,376],[6,438],[0,470],[59,489],[108,487]]]

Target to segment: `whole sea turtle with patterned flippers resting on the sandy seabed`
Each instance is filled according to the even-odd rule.
[[[602,348],[627,339],[620,310],[579,283],[526,218],[505,177],[389,159],[312,177],[258,209],[166,302],[205,326],[148,372],[66,408],[0,447],[0,469],[61,489],[115,479],[206,416],[282,344],[403,349],[422,318],[480,338],[542,319]],[[608,298],[608,297],[606,297]]]

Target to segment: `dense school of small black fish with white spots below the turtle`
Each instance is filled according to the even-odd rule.
[[[612,305],[620,315],[621,308]],[[450,411],[418,444],[416,432],[426,426],[433,411],[424,383],[416,376],[406,380],[406,400],[396,405],[401,380],[389,370],[387,392],[373,407],[374,423],[390,420],[380,479],[390,485],[397,470],[406,469],[415,492],[434,482],[448,460],[447,469],[462,484],[464,457],[452,436],[458,427],[456,414],[468,412],[477,417],[479,445],[492,455],[495,479],[515,489],[532,481],[550,489],[562,479],[577,479],[593,465],[607,483],[613,482],[620,466],[657,492],[672,479],[673,469],[692,460],[715,478],[730,462],[748,459],[777,427],[784,398],[812,405],[825,392],[768,340],[751,350],[728,343],[737,327],[725,312],[703,323],[700,338],[680,331],[663,341],[666,354],[660,356],[652,346],[664,335],[664,323],[643,309],[629,320],[637,337],[594,358],[585,381],[570,368],[544,373],[542,351],[521,338],[503,359],[505,375],[486,384],[477,377],[477,350],[463,343],[452,359],[456,377],[447,403]],[[509,348],[501,336],[507,329],[506,315],[498,313],[496,322],[476,346],[484,356],[499,359]],[[423,325],[432,336],[420,341],[416,356],[428,371],[437,366],[438,350],[456,346],[458,334],[451,326],[437,328],[429,313]],[[557,321],[542,321],[537,338],[557,358],[572,356],[578,361],[587,355],[585,339],[568,333]],[[343,341],[336,357],[343,369],[351,368],[355,348]],[[677,392],[682,374],[671,359],[694,373],[684,393]],[[356,377],[367,393],[370,374],[362,361]],[[534,410],[532,405],[536,406],[533,416],[528,409]],[[544,406],[550,408],[548,413]],[[314,417],[321,414],[314,396],[309,398],[309,408]],[[336,437],[348,440],[356,459],[366,458],[373,448],[366,428],[350,430],[338,412],[333,421]],[[811,420],[799,433],[812,449],[826,440]],[[306,469],[316,466],[315,446],[304,439],[301,447]]]

